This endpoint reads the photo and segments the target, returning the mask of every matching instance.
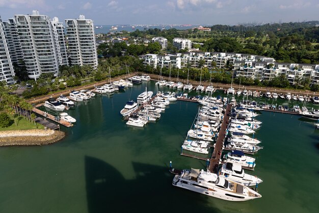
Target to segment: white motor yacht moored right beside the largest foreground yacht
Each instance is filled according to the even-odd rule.
[[[262,180],[254,175],[246,174],[239,164],[227,163],[222,166],[218,172],[226,180],[242,183],[247,187],[254,187],[256,184],[262,182]]]

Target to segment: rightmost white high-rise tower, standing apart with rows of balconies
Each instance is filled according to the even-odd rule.
[[[79,19],[66,19],[66,33],[71,65],[97,67],[94,25],[91,19],[80,15]]]

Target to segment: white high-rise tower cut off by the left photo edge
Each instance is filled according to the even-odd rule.
[[[14,71],[9,54],[9,48],[6,40],[4,24],[0,17],[0,82],[6,81],[7,84],[14,83]]]

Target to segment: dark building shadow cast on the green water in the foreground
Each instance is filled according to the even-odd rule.
[[[127,180],[110,164],[85,157],[88,212],[221,212],[208,207],[204,195],[173,189],[167,167],[137,162],[132,166],[136,178]]]

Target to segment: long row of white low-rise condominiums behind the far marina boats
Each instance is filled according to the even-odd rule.
[[[319,85],[319,65],[277,63],[275,59],[233,52],[187,52],[175,55],[147,54],[141,56],[144,65],[154,68],[174,67],[182,68],[188,63],[192,67],[199,67],[199,61],[204,61],[204,67],[209,69],[222,68],[231,65],[236,77],[258,79],[259,81],[271,81],[274,77],[285,75],[290,84],[295,84],[300,79],[309,79],[311,84]]]

